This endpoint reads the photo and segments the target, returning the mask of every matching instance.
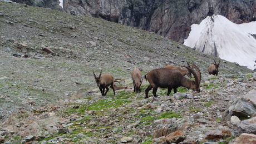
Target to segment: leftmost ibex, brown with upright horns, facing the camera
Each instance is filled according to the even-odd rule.
[[[102,72],[102,70],[101,70]],[[102,96],[107,95],[107,91],[109,91],[109,86],[112,87],[114,95],[115,95],[115,89],[114,89],[114,77],[110,74],[104,74],[101,76],[101,72],[99,77],[97,77],[93,71],[93,75],[95,77],[95,81],[97,83],[97,86],[100,88],[100,92]],[[106,88],[106,92],[105,92]]]

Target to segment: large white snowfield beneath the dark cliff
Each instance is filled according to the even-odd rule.
[[[255,69],[256,22],[235,24],[227,18],[214,15],[200,24],[193,24],[184,44],[198,51]]]

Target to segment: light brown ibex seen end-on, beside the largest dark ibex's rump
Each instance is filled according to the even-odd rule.
[[[134,92],[140,92],[140,85],[142,83],[142,75],[139,68],[134,68],[131,73],[132,82],[134,84]]]

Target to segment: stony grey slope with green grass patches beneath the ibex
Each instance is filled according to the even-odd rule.
[[[221,59],[218,77],[209,76],[213,56],[155,33],[48,8],[0,2],[0,27],[1,142],[152,143],[161,141],[155,128],[165,120],[165,134],[179,125],[194,143],[212,141],[205,137],[216,128],[232,133],[225,141],[240,135],[220,117],[236,98],[255,90],[248,68]],[[178,88],[176,96],[165,96],[159,88],[157,98],[145,99],[145,80],[140,93],[132,92],[133,68],[145,75],[191,60],[201,70],[200,93]],[[114,95],[110,88],[101,96],[93,76],[101,70],[127,89]]]

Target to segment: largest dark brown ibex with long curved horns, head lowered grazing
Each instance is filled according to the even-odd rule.
[[[174,93],[177,92],[178,87],[190,88],[193,91],[200,92],[200,81],[201,81],[201,72],[200,69],[195,66],[195,64],[190,64],[190,66],[196,69],[196,72],[188,66],[189,72],[191,72],[195,78],[195,81],[191,81],[181,74],[181,72],[176,69],[168,68],[157,68],[151,70],[145,75],[147,81],[149,81],[149,86],[145,90],[146,97],[148,98],[148,93],[153,88],[153,95],[156,97],[157,88],[168,88],[167,96],[170,95],[171,90],[174,88]]]

